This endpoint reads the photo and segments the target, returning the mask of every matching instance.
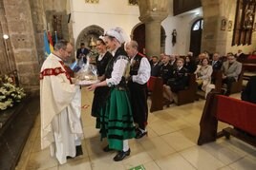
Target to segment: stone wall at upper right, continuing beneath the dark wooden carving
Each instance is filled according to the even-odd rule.
[[[252,51],[256,46],[256,33],[252,34],[252,45],[231,46],[235,20],[237,0],[202,0],[203,5],[203,36],[202,50],[218,51],[222,55],[227,52],[236,53],[239,48],[245,53]],[[222,20],[232,21],[231,30],[221,30]]]

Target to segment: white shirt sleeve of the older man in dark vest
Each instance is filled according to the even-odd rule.
[[[133,63],[134,57],[131,59],[131,64]],[[141,58],[139,64],[138,74],[132,76],[132,80],[139,85],[144,85],[148,82],[150,78],[151,66],[146,57]]]

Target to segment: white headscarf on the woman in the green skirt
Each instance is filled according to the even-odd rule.
[[[128,41],[128,36],[122,28],[111,28],[106,31],[105,35],[115,37],[120,44]]]

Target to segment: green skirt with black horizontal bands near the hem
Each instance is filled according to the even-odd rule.
[[[122,150],[123,141],[136,135],[133,114],[125,90],[111,89],[106,106],[100,111],[101,140],[107,138],[109,147]]]

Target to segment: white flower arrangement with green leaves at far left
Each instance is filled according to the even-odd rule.
[[[14,85],[11,77],[5,75],[0,78],[0,110],[20,103],[25,96],[24,89]]]

